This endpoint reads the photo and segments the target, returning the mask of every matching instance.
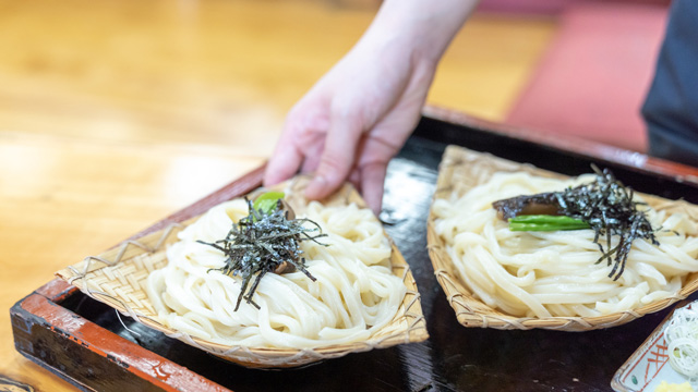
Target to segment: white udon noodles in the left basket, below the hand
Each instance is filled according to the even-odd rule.
[[[390,322],[406,293],[392,273],[381,223],[353,204],[312,201],[304,212],[328,234],[320,238],[328,246],[301,244],[315,282],[300,271],[267,273],[253,296],[260,309],[243,299],[233,311],[241,278],[209,271],[222,267],[224,254],[196,241],[224,238],[232,221],[248,215],[245,201],[236,199],[183,230],[167,249],[168,265],[148,277],[158,317],[174,330],[226,345],[311,348],[370,338]]]

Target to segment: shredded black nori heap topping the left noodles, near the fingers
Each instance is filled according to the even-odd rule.
[[[263,209],[255,209],[246,197],[245,201],[250,215],[237,223],[232,222],[232,228],[224,240],[215,243],[198,241],[198,243],[215,247],[226,256],[225,266],[210,269],[209,272],[215,270],[228,275],[240,274],[242,277],[242,289],[234,311],[238,310],[243,298],[248,304],[252,304],[258,309],[260,306],[252,301],[252,295],[254,295],[260,281],[266,273],[276,271],[285,262],[290,264],[315,281],[315,277],[305,269],[305,259],[301,256],[303,250],[300,248],[300,243],[303,241],[318,243],[317,238],[327,236],[322,233],[320,225],[310,219],[287,219],[280,199],[277,201],[277,208],[270,213]],[[305,222],[312,223],[315,228],[303,226]],[[248,291],[248,285],[254,274],[256,274],[254,283]]]

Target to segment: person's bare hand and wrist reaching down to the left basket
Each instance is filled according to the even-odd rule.
[[[417,125],[436,63],[469,13],[444,17],[431,7],[430,19],[418,12],[425,2],[400,8],[407,15],[393,4],[405,2],[386,1],[357,46],[291,109],[265,185],[314,172],[305,196],[320,199],[349,180],[380,212],[388,161]],[[448,21],[456,26],[444,28]]]

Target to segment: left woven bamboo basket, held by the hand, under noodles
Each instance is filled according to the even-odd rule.
[[[301,196],[306,181],[297,179],[290,183],[287,200],[298,211],[306,203]],[[284,185],[282,185],[284,186]],[[286,187],[285,191],[289,188]],[[325,205],[356,203],[364,206],[359,194],[350,185],[323,201]],[[274,347],[229,346],[191,336],[168,328],[151,304],[145,291],[148,274],[167,265],[166,248],[177,241],[179,233],[190,219],[181,224],[169,225],[137,241],[125,241],[120,245],[83,261],[67,267],[56,274],[77,286],[88,296],[103,302],[134,320],[179,339],[194,347],[214,354],[224,359],[251,368],[288,368],[337,358],[349,353],[360,353],[373,348],[385,348],[397,344],[422,342],[429,338],[422,314],[420,295],[410,268],[390,241],[393,273],[402,279],[407,294],[393,320],[377,330],[366,341],[349,344],[317,346],[314,348],[292,350]],[[387,236],[387,235],[386,235]]]

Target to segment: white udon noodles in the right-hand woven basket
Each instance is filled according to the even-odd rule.
[[[446,243],[460,280],[492,308],[516,317],[601,316],[677,293],[698,271],[697,226],[684,213],[648,210],[661,246],[635,240],[617,281],[613,265],[595,264],[601,253],[593,230],[513,232],[492,203],[518,195],[562,191],[593,175],[561,181],[528,173],[495,173],[461,197],[436,199],[435,231]],[[637,198],[637,196],[636,196]],[[612,246],[617,243],[612,238]],[[609,246],[600,240],[604,249]]]

